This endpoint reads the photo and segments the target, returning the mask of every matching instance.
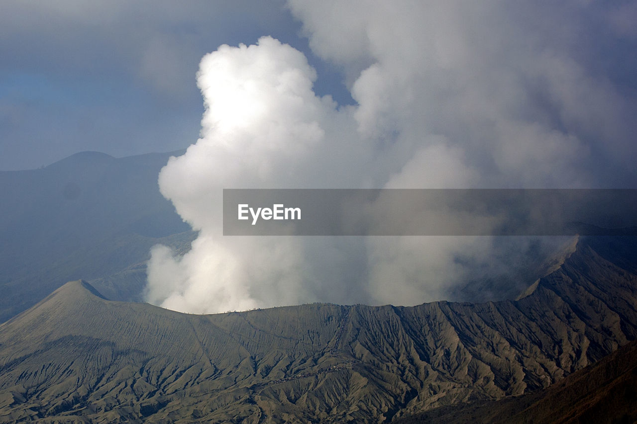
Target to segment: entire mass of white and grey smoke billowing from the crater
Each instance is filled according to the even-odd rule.
[[[504,272],[489,265],[503,251],[537,253],[531,241],[498,248],[489,237],[223,237],[221,189],[569,188],[630,175],[626,111],[637,102],[572,53],[569,34],[586,31],[581,17],[595,11],[571,6],[557,10],[570,31],[561,32],[543,23],[556,12],[543,6],[290,0],[312,50],[343,69],[356,106],[317,97],[303,53],[276,39],[206,55],[201,138],[159,176],[199,237],[183,257],[154,248],[148,301],[196,313],[417,304]]]

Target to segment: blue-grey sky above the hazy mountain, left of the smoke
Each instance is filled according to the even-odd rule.
[[[0,171],[92,150],[186,148],[199,134],[199,60],[219,45],[285,39],[321,70],[319,92],[352,102],[282,1],[0,2]]]

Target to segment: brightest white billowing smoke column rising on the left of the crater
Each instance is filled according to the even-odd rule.
[[[325,135],[322,110],[333,109],[311,91],[314,78],[303,54],[268,37],[201,60],[201,138],[159,175],[162,194],[199,237],[180,258],[152,250],[149,302],[208,313],[304,299],[303,246],[292,237],[222,237],[221,195],[289,186],[311,159]]]

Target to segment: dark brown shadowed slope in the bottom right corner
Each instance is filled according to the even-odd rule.
[[[416,423],[633,423],[637,420],[637,341],[546,390],[441,407],[397,420]]]

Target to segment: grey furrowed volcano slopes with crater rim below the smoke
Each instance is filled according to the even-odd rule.
[[[637,338],[634,241],[519,300],[192,315],[68,283],[0,325],[0,421],[379,422],[546,388]]]

